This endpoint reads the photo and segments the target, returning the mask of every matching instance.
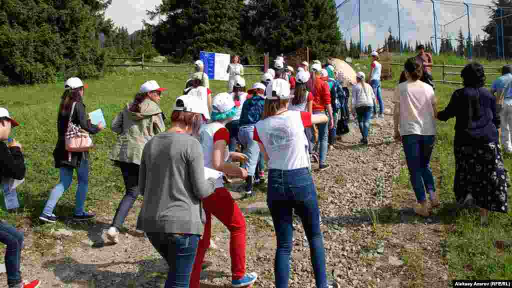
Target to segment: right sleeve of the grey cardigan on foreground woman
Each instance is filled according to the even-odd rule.
[[[194,194],[199,199],[210,196],[215,191],[215,181],[204,179],[203,149],[197,140],[190,140],[188,151],[188,175]]]

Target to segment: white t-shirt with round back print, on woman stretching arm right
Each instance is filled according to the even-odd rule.
[[[286,111],[259,121],[255,125],[253,139],[265,147],[269,157],[268,168],[309,168],[308,140],[304,128],[311,126],[311,113],[300,111]]]

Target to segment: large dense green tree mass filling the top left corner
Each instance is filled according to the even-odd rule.
[[[104,67],[99,33],[112,29],[112,0],[0,1],[0,71],[11,83],[92,77]]]

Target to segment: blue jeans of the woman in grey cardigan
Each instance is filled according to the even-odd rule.
[[[188,288],[201,235],[148,232],[147,238],[169,265],[165,288]]]

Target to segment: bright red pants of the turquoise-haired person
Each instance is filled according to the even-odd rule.
[[[229,255],[231,257],[231,274],[233,280],[245,275],[245,218],[240,208],[226,188],[217,188],[214,194],[203,199],[203,208],[206,212],[204,234],[199,240],[194,268],[190,275],[190,288],[199,288],[199,278],[204,255],[210,246],[211,215],[219,219],[229,230]]]

